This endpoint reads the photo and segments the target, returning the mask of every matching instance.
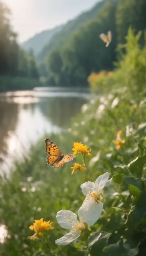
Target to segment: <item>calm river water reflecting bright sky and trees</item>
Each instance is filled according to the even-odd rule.
[[[0,94],[0,169],[21,159],[44,134],[67,129],[90,98],[88,89],[35,88]]]

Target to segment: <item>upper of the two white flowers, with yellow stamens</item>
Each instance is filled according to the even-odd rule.
[[[100,175],[95,183],[88,181],[81,185],[83,194],[86,196],[80,210],[83,210],[84,215],[92,215],[93,220],[97,220],[102,212],[103,203],[101,200],[102,190],[108,182],[109,173],[106,172]]]

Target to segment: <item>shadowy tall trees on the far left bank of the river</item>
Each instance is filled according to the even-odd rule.
[[[39,72],[33,51],[22,50],[17,42],[17,34],[10,25],[10,10],[5,3],[0,2],[0,76],[21,77],[38,80]],[[6,87],[6,88],[5,88]],[[7,89],[6,83],[0,84],[0,90]],[[12,88],[13,89],[13,88]],[[14,88],[15,89],[15,88]],[[20,87],[21,88],[21,82]]]

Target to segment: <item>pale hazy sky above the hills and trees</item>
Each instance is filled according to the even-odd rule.
[[[1,0],[0,0],[1,1]],[[3,0],[12,12],[12,25],[19,42],[36,33],[64,24],[99,0]]]

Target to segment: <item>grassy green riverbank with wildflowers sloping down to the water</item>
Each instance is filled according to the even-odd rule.
[[[23,162],[15,163],[9,180],[1,178],[0,218],[9,234],[1,245],[2,256],[8,252],[10,256],[95,256],[97,251],[99,256],[145,255],[146,49],[141,50],[136,42],[137,38],[129,35],[127,54],[112,76],[94,76],[92,89],[104,86],[104,94],[82,106],[82,114],[72,119],[68,132],[46,134]],[[75,170],[71,175],[73,163],[84,163],[80,153],[59,169],[45,165],[46,138],[62,152],[64,147],[63,153],[72,152],[77,141],[91,148],[83,173]],[[71,245],[55,245],[55,240],[67,233],[56,221],[57,211],[77,213],[84,200],[80,185],[105,172],[114,177],[104,189],[103,212],[97,223]],[[47,249],[41,240],[27,238],[33,235],[29,226],[40,218],[53,221],[54,229],[46,235]],[[88,237],[95,232],[97,237],[90,238],[87,251]],[[106,232],[105,236],[100,232]]]

